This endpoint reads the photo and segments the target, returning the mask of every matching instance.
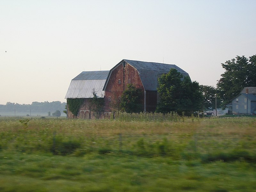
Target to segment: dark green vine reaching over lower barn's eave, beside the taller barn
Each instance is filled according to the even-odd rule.
[[[104,98],[99,98],[96,91],[92,91],[93,98],[91,99],[91,110],[96,119],[99,119],[101,114],[104,112],[105,101]]]

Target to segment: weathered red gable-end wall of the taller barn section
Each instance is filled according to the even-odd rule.
[[[129,82],[129,79],[131,79],[131,82]],[[121,81],[120,84],[118,80]],[[123,64],[120,63],[113,69],[105,89],[105,111],[111,111],[111,101],[117,100],[129,83],[143,91],[142,104],[144,106],[144,87],[141,83],[138,71],[129,64],[123,67]],[[111,101],[109,101],[109,97],[111,97]]]

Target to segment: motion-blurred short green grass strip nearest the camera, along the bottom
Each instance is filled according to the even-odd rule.
[[[1,191],[256,191],[255,164],[0,153]]]

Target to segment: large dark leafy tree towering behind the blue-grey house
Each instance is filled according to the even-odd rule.
[[[221,65],[225,72],[221,74],[217,88],[223,102],[222,108],[225,108],[244,87],[256,86],[256,55],[249,57],[249,60],[244,56],[236,56],[236,59]]]

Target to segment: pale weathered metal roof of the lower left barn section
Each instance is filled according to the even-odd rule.
[[[83,71],[71,80],[65,98],[92,98],[93,90],[98,97],[104,97],[102,90],[108,73],[109,71]]]

